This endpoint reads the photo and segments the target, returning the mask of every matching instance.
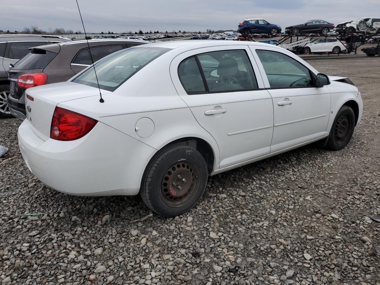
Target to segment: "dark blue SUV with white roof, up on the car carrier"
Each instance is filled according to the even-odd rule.
[[[279,25],[269,24],[269,22],[263,19],[247,19],[239,24],[237,32],[243,36],[248,36],[253,33],[275,36],[281,33],[281,27]]]

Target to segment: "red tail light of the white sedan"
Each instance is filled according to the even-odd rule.
[[[55,107],[51,120],[50,137],[59,141],[72,141],[86,135],[98,121],[87,116]]]

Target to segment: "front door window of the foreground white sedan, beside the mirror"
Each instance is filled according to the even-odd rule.
[[[275,51],[256,50],[271,88],[312,86],[310,71],[297,60]]]

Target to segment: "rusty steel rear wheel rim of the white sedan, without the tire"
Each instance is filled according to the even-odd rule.
[[[185,205],[199,185],[198,167],[192,160],[181,160],[169,166],[160,183],[162,201],[170,207]]]

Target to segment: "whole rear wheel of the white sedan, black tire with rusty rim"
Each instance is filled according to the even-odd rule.
[[[206,161],[196,149],[172,146],[150,161],[140,195],[144,203],[159,215],[174,217],[184,214],[203,196],[207,174]]]

